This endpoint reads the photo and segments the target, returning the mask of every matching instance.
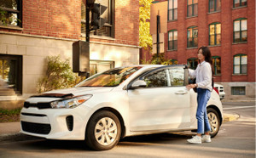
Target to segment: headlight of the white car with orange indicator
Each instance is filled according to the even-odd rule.
[[[75,97],[73,99],[66,99],[66,100],[57,100],[50,103],[51,108],[58,109],[58,108],[75,108],[78,107],[80,104],[83,104],[86,100],[90,99],[92,95],[83,95],[79,97]]]

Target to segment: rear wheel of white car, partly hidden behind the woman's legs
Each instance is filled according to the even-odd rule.
[[[218,112],[212,108],[207,109],[208,120],[212,129],[211,137],[215,137],[218,134],[218,130],[220,127],[220,116]]]

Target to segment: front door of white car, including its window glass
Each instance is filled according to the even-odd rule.
[[[131,131],[189,127],[189,93],[184,72],[182,66],[165,66],[138,77],[147,82],[147,87],[128,89]]]

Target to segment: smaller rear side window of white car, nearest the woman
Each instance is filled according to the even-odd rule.
[[[184,69],[182,67],[172,67],[168,70],[172,86],[184,86]]]

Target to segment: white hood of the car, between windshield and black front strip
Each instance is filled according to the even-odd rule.
[[[72,93],[73,96],[77,96],[77,95],[83,95],[83,94],[108,93],[112,89],[113,87],[72,87],[67,89],[53,90],[46,93],[60,93],[60,94]]]

